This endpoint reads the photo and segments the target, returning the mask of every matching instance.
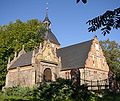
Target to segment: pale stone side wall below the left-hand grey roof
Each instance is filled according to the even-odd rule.
[[[35,71],[32,66],[17,67],[8,71],[6,86],[32,86],[35,84]]]

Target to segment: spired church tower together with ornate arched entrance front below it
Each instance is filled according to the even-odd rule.
[[[39,61],[37,66],[37,82],[55,81],[59,77],[60,59],[57,56],[57,49],[60,48],[60,43],[51,31],[51,21],[48,17],[48,7],[46,7],[46,14],[43,20],[46,26],[44,34],[44,42],[40,45],[40,51],[36,56]]]

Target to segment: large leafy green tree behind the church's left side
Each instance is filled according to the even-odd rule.
[[[13,58],[15,52],[19,52],[22,45],[30,51],[37,47],[43,39],[44,25],[37,19],[0,26],[0,89],[5,84],[6,67],[8,57]]]

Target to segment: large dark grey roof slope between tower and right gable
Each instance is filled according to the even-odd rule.
[[[90,51],[92,40],[57,50],[61,57],[62,69],[83,68]]]

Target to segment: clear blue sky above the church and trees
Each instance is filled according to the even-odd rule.
[[[120,29],[113,29],[106,36],[101,31],[88,32],[86,22],[106,10],[120,7],[120,0],[88,0],[76,4],[76,0],[0,0],[0,25],[9,24],[16,19],[25,22],[30,19],[44,20],[46,3],[48,16],[52,22],[51,30],[61,46],[68,46],[92,39],[115,40],[120,44]]]

